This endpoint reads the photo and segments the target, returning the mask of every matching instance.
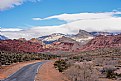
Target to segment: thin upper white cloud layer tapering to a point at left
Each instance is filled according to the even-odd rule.
[[[73,22],[76,20],[89,20],[89,19],[104,19],[110,18],[115,14],[121,14],[121,12],[114,11],[114,12],[105,12],[105,13],[77,13],[77,14],[61,14],[50,16],[47,18],[32,18],[33,20],[48,20],[57,18],[59,20],[64,20],[66,22]]]

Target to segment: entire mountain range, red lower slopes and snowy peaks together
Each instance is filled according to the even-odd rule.
[[[105,47],[121,47],[120,32],[87,32],[79,30],[75,35],[54,33],[47,36],[8,40],[0,35],[0,50],[13,52],[76,52]]]

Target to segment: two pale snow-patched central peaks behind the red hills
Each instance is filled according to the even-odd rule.
[[[79,33],[76,35],[69,35],[69,34],[65,35],[62,33],[54,33],[51,35],[39,37],[38,39],[42,40],[46,44],[51,44],[53,42],[58,41],[58,39],[60,39],[62,37],[68,37],[68,38],[71,38],[77,42],[82,42],[82,43],[86,43],[89,40],[93,39],[93,35],[91,35],[89,32],[87,32],[85,30],[79,30]]]

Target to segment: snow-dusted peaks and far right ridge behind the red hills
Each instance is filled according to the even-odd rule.
[[[51,35],[38,37],[38,40],[43,41],[45,44],[52,44],[53,42],[57,42],[58,39],[64,36],[64,37],[71,38],[77,42],[86,44],[91,39],[99,35],[108,36],[108,35],[118,35],[120,33],[121,32],[87,32],[85,30],[79,30],[79,32],[76,35],[65,35],[62,33],[54,33]]]

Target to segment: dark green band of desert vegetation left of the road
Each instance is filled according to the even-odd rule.
[[[30,60],[50,60],[55,58],[57,58],[57,55],[0,51],[0,66]]]

